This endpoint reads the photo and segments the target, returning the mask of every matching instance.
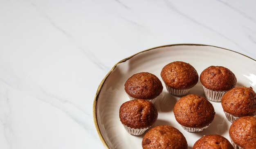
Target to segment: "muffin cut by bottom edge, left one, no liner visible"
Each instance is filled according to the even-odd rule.
[[[159,125],[150,129],[142,139],[143,149],[187,149],[183,134],[169,125]]]

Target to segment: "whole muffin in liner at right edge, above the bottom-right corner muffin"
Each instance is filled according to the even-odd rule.
[[[252,87],[233,88],[222,96],[221,105],[231,123],[242,116],[255,116],[256,93]]]

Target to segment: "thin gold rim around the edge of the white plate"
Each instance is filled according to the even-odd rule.
[[[98,134],[99,134],[99,138],[101,139],[101,142],[102,142],[103,145],[106,147],[106,149],[109,149],[109,147],[108,147],[106,141],[104,140],[104,138],[103,138],[103,136],[102,136],[102,134],[101,134],[101,131],[99,130],[99,124],[98,124],[98,121],[97,121],[97,112],[96,112],[96,106],[97,106],[97,101],[98,101],[98,98],[99,98],[99,94],[100,94],[100,92],[101,92],[101,88],[102,88],[103,84],[105,83],[106,79],[107,79],[108,76],[111,74],[111,72],[112,72],[113,70],[115,70],[115,68],[117,67],[118,64],[123,63],[123,62],[127,61],[128,59],[131,59],[131,58],[134,57],[135,55],[138,55],[138,54],[140,54],[140,53],[143,53],[143,52],[146,52],[146,51],[149,51],[149,50],[154,50],[154,49],[156,49],[156,48],[163,48],[163,47],[169,47],[169,46],[211,46],[211,45],[206,45],[206,44],[169,44],[169,45],[164,45],[164,46],[157,46],[157,47],[155,47],[155,48],[149,48],[149,49],[147,49],[147,50],[143,50],[143,51],[141,51],[141,52],[139,52],[139,53],[136,53],[136,54],[134,54],[134,55],[132,55],[132,56],[130,56],[130,57],[127,57],[127,58],[125,58],[125,59],[119,61],[117,64],[115,64],[115,65],[112,67],[112,69],[108,72],[108,74],[103,78],[103,80],[101,81],[101,83],[99,84],[99,87],[98,87],[98,89],[97,89],[97,92],[96,92],[96,94],[95,94],[95,96],[94,96],[93,110],[92,110],[92,112],[93,112],[94,125],[95,125],[96,130],[97,130],[97,132],[98,132]],[[220,48],[220,49],[223,49],[223,50],[229,50],[229,49],[221,48],[221,47],[218,47],[218,46],[211,46],[211,47]],[[229,50],[229,51],[238,53],[238,52],[233,51],[233,50]],[[248,57],[247,55],[244,55],[244,54],[241,54],[241,53],[238,53],[238,54],[243,55],[243,56],[245,56],[245,57]],[[252,59],[252,60],[254,60],[254,61],[256,61],[255,59],[253,59],[253,58],[251,58],[251,57],[248,57],[248,58],[249,58],[249,59]]]

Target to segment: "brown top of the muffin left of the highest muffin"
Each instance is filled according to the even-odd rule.
[[[137,99],[154,99],[163,90],[161,81],[149,72],[132,75],[124,84],[128,95]]]

